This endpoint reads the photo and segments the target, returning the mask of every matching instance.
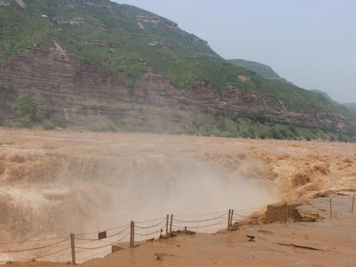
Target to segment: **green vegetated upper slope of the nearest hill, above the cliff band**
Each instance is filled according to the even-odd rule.
[[[138,7],[109,0],[24,2],[25,7],[21,7],[14,0],[1,0],[0,63],[27,46],[53,49],[55,38],[70,58],[100,64],[128,88],[135,88],[142,75],[151,71],[164,75],[177,88],[194,81],[203,81],[219,91],[234,86],[277,96],[284,103],[283,107],[273,107],[277,110],[308,113],[314,106],[349,116],[346,109],[320,94],[280,79],[264,79],[230,64],[175,22]],[[246,79],[240,79],[240,75]]]

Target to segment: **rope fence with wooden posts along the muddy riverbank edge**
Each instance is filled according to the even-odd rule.
[[[355,195],[352,212],[354,202]],[[190,215],[167,214],[167,216],[148,221],[131,221],[129,224],[102,231],[72,233],[69,236],[47,239],[4,242],[0,243],[0,263],[11,264],[13,262],[45,260],[75,265],[76,262],[85,262],[94,259],[94,257],[105,256],[114,252],[115,246],[113,245],[122,248],[135,248],[141,242],[153,241],[162,237],[167,238],[171,233],[177,231],[183,231],[183,233],[188,233],[188,231],[214,233],[223,229],[234,230],[239,225],[256,223],[257,217],[250,214],[262,209],[265,209],[265,207],[245,210],[229,209],[228,211]],[[330,215],[332,217],[331,202]],[[286,218],[288,218],[287,206]],[[30,246],[30,244],[33,246]],[[12,246],[16,248],[1,249]],[[32,255],[28,256],[29,254]]]

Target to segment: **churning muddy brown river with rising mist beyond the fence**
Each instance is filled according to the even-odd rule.
[[[4,241],[67,236],[167,213],[249,209],[355,188],[355,148],[346,143],[0,130],[5,214],[0,231]],[[309,179],[296,184],[300,174]]]

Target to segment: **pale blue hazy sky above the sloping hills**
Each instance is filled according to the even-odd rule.
[[[356,103],[356,0],[116,0],[178,23],[226,59]]]

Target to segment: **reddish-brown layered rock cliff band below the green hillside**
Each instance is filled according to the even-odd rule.
[[[154,73],[146,73],[141,85],[129,93],[113,73],[99,65],[34,48],[27,48],[0,65],[0,82],[35,93],[40,110],[49,110],[56,119],[69,121],[93,121],[107,115],[118,119],[152,116],[170,120],[155,108],[137,112],[137,106],[141,105],[232,116],[259,113],[272,121],[333,130],[343,130],[347,124],[342,115],[316,107],[310,107],[311,114],[279,110],[273,107],[283,107],[283,103],[276,97],[238,88],[230,87],[220,94],[203,82],[195,82],[178,90],[164,76]]]

